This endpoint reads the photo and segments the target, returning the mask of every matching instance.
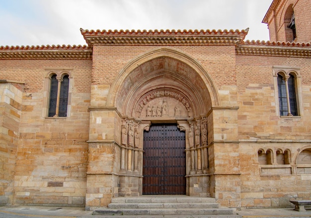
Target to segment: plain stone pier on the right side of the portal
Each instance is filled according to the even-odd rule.
[[[213,135],[209,140],[211,196],[225,207],[240,207],[238,107],[213,107]],[[210,123],[211,124],[211,123]]]

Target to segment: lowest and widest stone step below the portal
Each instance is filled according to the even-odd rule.
[[[233,215],[231,208],[213,209],[109,209],[98,208],[93,215]]]

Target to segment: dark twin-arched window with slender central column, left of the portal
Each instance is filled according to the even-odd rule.
[[[60,86],[60,88],[59,88]],[[51,77],[49,117],[67,117],[69,76]]]

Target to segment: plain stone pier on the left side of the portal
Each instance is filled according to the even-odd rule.
[[[121,119],[115,108],[90,109],[85,209],[106,207],[118,196]]]

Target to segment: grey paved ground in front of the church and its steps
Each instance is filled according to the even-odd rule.
[[[196,215],[196,216],[102,216],[92,215],[84,208],[55,207],[0,207],[0,218],[311,218],[311,210],[294,211],[293,208],[242,209],[233,215]]]

